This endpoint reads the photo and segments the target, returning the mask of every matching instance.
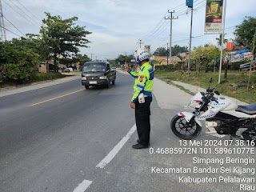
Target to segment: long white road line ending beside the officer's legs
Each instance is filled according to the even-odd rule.
[[[106,166],[114,158],[114,156],[116,154],[118,154],[119,150],[122,149],[122,146],[124,146],[126,144],[128,139],[130,138],[130,136],[132,134],[134,134],[135,130],[136,130],[136,124],[134,124],[134,126],[129,130],[129,132],[126,134],[126,136],[123,137],[122,140],[120,142],[118,142],[118,144],[116,146],[114,146],[113,150],[111,150],[110,153],[107,154],[106,157],[103,158],[102,161],[99,162],[96,167],[104,168],[104,166]]]

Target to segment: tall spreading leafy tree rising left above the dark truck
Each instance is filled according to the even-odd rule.
[[[42,42],[45,42],[50,54],[53,55],[55,71],[57,71],[58,58],[75,57],[78,46],[88,47],[86,44],[89,41],[86,35],[91,32],[85,30],[86,26],[75,26],[77,17],[62,19],[61,16],[51,16],[50,13],[46,13],[46,17],[42,20],[40,34]]]

